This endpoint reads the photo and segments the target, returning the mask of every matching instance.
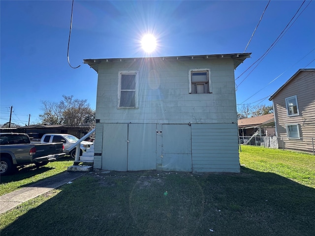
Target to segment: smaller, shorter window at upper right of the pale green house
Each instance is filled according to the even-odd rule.
[[[210,93],[210,70],[189,70],[189,93]]]

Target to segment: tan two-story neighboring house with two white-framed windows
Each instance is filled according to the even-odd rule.
[[[315,69],[298,70],[269,100],[274,104],[279,148],[313,152]]]

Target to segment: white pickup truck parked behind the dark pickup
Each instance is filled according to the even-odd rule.
[[[73,144],[75,144],[79,139],[71,134],[44,134],[40,140],[41,144],[47,143],[63,143],[64,152],[69,154],[72,158],[75,158],[76,148],[68,150]],[[93,145],[92,142],[82,141],[80,144],[80,156],[82,152]]]

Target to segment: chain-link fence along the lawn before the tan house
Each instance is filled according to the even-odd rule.
[[[288,139],[276,136],[240,136],[239,143],[264,148],[302,151],[315,155],[315,138]]]

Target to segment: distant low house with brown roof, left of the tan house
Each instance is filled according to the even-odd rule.
[[[262,136],[276,135],[273,113],[258,117],[239,119],[237,124],[240,136],[252,136],[255,133]]]

